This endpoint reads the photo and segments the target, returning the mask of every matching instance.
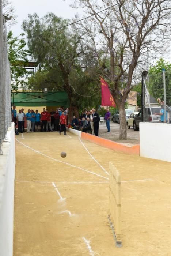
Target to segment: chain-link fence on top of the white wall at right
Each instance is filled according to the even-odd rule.
[[[147,75],[147,74],[146,74]],[[144,121],[171,123],[171,72],[143,76]],[[143,91],[142,90],[142,91]]]

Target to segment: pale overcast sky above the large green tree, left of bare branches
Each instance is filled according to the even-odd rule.
[[[11,30],[15,36],[22,33],[21,25],[23,19],[28,17],[28,14],[33,14],[36,12],[39,17],[44,16],[47,12],[53,12],[55,15],[72,19],[76,13],[83,14],[83,11],[76,10],[70,7],[73,4],[73,0],[11,0],[17,15],[17,23],[11,26]]]

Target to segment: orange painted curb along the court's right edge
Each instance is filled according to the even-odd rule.
[[[98,136],[95,136],[86,132],[81,132],[81,138],[94,142],[102,147],[110,148],[110,149],[121,151],[128,154],[140,155],[140,145],[128,147],[120,143],[107,140],[104,138],[100,138]]]

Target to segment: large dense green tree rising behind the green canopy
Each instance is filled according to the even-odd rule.
[[[68,22],[53,13],[43,18],[37,14],[28,15],[28,19],[23,21],[28,48],[39,63],[39,71],[29,79],[28,87],[67,91],[70,109],[78,115],[83,106],[99,105],[96,102],[99,102],[99,76],[95,75],[98,74],[96,61],[87,64],[82,35],[66,27]],[[83,65],[81,60],[85,59],[87,63],[84,61]]]

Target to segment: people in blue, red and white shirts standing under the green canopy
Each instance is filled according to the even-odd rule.
[[[15,124],[18,124],[18,132],[25,132],[25,117],[27,122],[27,132],[36,132],[36,131],[58,131],[61,134],[61,131],[64,131],[66,135],[66,125],[68,123],[68,109],[63,107],[56,108],[56,111],[52,109],[50,112],[48,109],[43,108],[41,113],[38,113],[38,110],[30,110],[25,114],[24,109],[19,109],[19,113],[16,111],[16,107],[13,106],[12,109],[12,121]]]

